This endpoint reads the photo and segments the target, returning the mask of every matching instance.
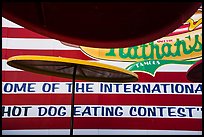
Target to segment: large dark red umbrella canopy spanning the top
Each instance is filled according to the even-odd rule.
[[[141,45],[168,35],[201,2],[8,2],[3,17],[39,34],[95,48]]]

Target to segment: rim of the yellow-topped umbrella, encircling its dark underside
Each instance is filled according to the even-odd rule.
[[[15,61],[20,61],[20,60],[36,60],[36,61],[51,61],[51,62],[61,62],[61,63],[68,63],[68,64],[80,64],[80,65],[87,65],[87,66],[94,66],[94,67],[99,67],[99,68],[105,68],[108,70],[114,70],[114,71],[119,71],[128,75],[133,76],[131,79],[124,79],[124,78],[117,78],[117,82],[131,82],[131,81],[137,81],[138,80],[138,75],[134,72],[125,70],[123,68],[119,68],[116,66],[108,65],[108,64],[102,64],[99,62],[92,62],[92,61],[87,61],[87,60],[81,60],[81,59],[74,59],[74,58],[64,58],[64,57],[57,57],[57,56],[37,56],[37,55],[18,55],[18,56],[13,56],[10,57],[7,60],[7,64],[26,71],[31,71],[35,73],[40,73],[40,74],[46,74],[46,75],[52,75],[52,76],[60,76],[64,78],[72,78],[72,75],[64,75],[64,74],[59,74],[59,73],[54,73],[54,72],[49,72],[46,70],[40,70],[36,68],[32,68],[31,66],[27,65],[19,65],[15,63]],[[89,80],[89,81],[107,81],[107,82],[114,82],[114,79],[106,79],[106,78],[88,78],[88,77],[80,77],[77,76],[78,79],[81,80]]]

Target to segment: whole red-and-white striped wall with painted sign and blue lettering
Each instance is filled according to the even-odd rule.
[[[131,83],[77,80],[74,134],[202,134],[202,83],[187,70],[202,59],[202,7],[168,36],[140,46],[67,46],[2,18],[2,133],[69,134],[71,79],[6,64],[15,55],[50,55],[115,65]]]

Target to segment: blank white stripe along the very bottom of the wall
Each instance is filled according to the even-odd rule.
[[[69,135],[69,129],[2,130],[2,135]],[[74,135],[202,135],[202,131],[74,129]]]

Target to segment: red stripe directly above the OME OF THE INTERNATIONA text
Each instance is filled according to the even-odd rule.
[[[186,78],[186,72],[157,72],[155,77],[137,72],[138,82],[190,82]],[[4,82],[69,82],[71,79],[47,76],[27,71],[2,71],[2,81]],[[80,80],[79,80],[80,81]]]

